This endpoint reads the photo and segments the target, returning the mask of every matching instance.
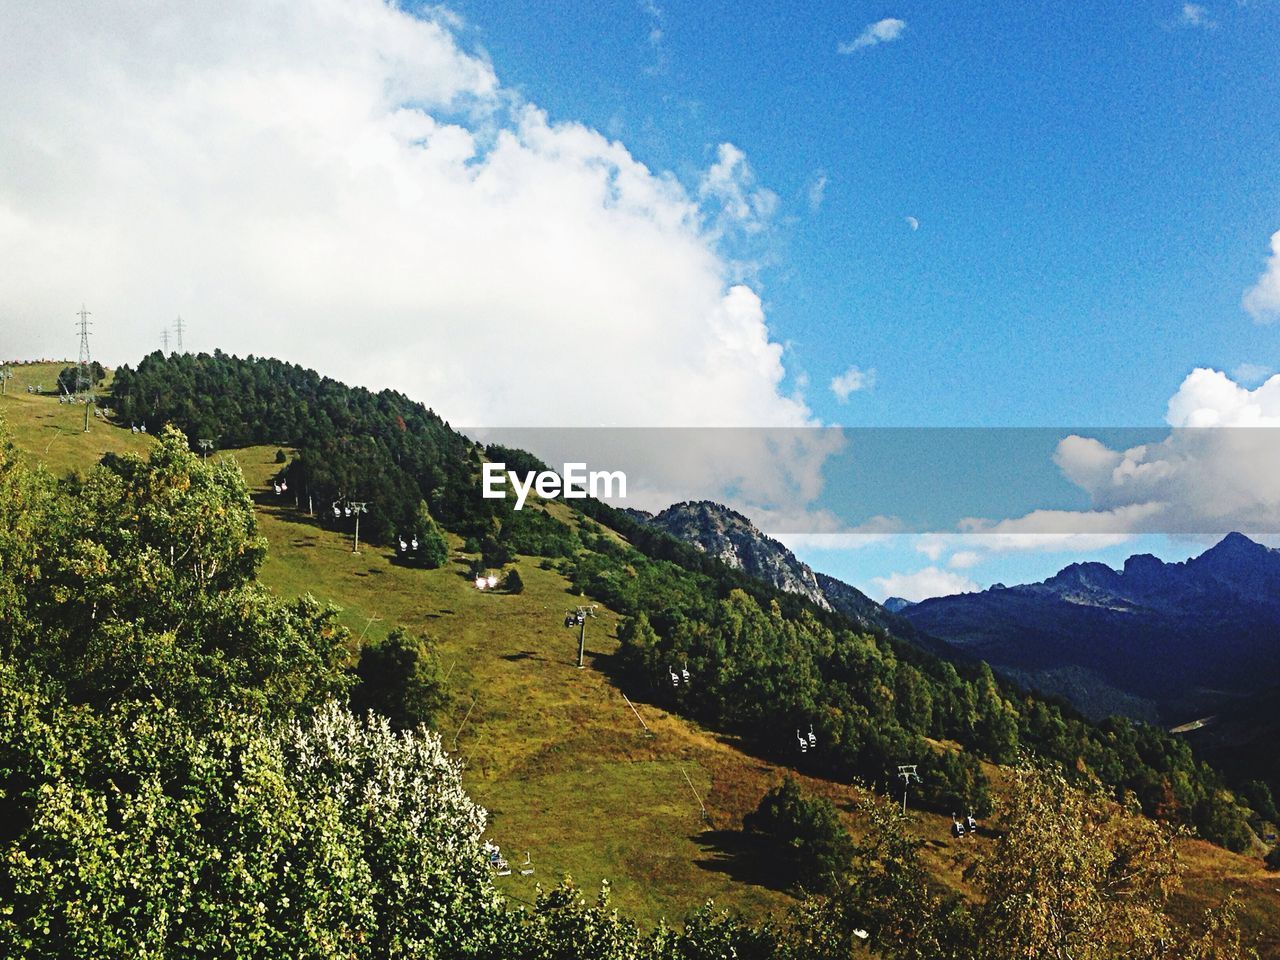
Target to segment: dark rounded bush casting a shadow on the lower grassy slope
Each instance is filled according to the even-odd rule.
[[[806,890],[833,890],[849,873],[854,841],[835,805],[822,796],[805,796],[791,777],[764,795],[742,827],[763,833]]]

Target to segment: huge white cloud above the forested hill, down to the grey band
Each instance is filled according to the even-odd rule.
[[[691,195],[422,17],[6,8],[6,348],[72,352],[84,300],[104,361],[180,312],[188,347],[393,385],[460,425],[812,424],[722,253],[776,204],[742,152],[722,145]]]

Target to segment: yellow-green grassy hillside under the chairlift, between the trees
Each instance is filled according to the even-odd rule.
[[[44,374],[44,381],[51,383],[58,369]],[[22,371],[29,378],[41,371],[17,371],[10,388],[17,384],[18,390],[0,402],[0,413],[19,445],[52,468],[83,468],[106,451],[140,451],[148,443],[101,422],[84,434],[82,408],[29,397]],[[707,899],[756,915],[787,902],[771,886],[767,865],[750,852],[733,852],[742,815],[781,780],[782,769],[659,704],[637,703],[653,731],[648,736],[600,669],[617,646],[612,612],[602,608],[589,622],[588,667],[579,671],[576,631],[563,627],[575,598],[536,559],[520,559],[525,593],[509,596],[477,591],[463,561],[422,571],[397,566],[378,548],[352,556],[349,532],[308,521],[292,498],[270,492],[274,447],[233,456],[257,492],[270,541],[262,571],[268,584],[284,594],[310,591],[333,600],[357,636],[403,626],[438,641],[453,696],[440,722],[445,742],[452,745],[457,735],[467,786],[489,808],[493,837],[513,863],[525,850],[532,855],[534,876],[503,881],[511,896],[532,900],[536,883],[571,874],[589,891],[608,879],[614,902],[645,922],[678,919]],[[1000,772],[988,772],[998,786]],[[707,804],[709,822],[685,774]],[[846,808],[854,799],[850,787],[806,785]],[[936,874],[964,890],[960,874],[975,844],[952,840],[943,817],[918,814],[915,824],[928,840]],[[1238,892],[1245,925],[1266,932],[1267,955],[1280,956],[1280,877],[1254,859],[1207,844],[1185,841],[1181,849],[1189,872],[1179,911],[1199,913]]]

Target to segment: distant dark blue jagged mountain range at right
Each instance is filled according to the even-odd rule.
[[[1073,563],[901,616],[1092,717],[1179,723],[1280,684],[1280,550],[1243,534],[1180,563]]]

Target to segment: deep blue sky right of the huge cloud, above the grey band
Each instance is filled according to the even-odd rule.
[[[659,6],[457,4],[508,84],[650,166],[745,151],[828,422],[1157,424],[1194,366],[1280,364],[1240,308],[1280,210],[1274,3]],[[842,404],[847,365],[877,376]]]

